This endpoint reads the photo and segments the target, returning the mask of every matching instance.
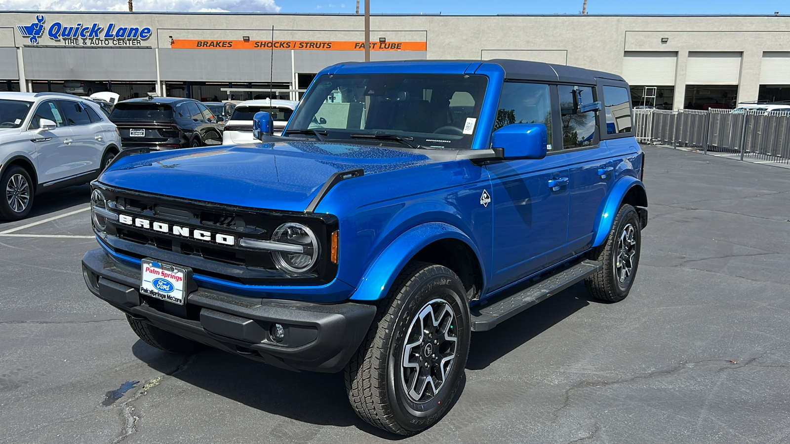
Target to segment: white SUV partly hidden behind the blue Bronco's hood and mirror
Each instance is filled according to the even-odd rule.
[[[225,122],[222,145],[238,145],[258,141],[252,137],[252,118],[258,111],[269,111],[272,115],[274,130],[280,134],[291,119],[299,102],[295,100],[246,100],[236,105],[233,115]]]

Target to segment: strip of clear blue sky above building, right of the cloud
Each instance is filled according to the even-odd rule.
[[[371,13],[554,14],[579,13],[584,0],[371,0]],[[281,13],[353,13],[355,0],[316,2],[276,0]],[[364,0],[360,1],[360,12]],[[342,6],[342,7],[341,7]],[[588,0],[587,12],[599,14],[790,14],[790,0]]]

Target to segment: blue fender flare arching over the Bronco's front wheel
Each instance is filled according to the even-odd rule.
[[[466,243],[480,262],[480,251],[463,231],[444,222],[428,222],[410,228],[390,243],[367,267],[352,300],[374,301],[383,299],[392,287],[398,273],[415,254],[425,246],[441,239],[458,239]],[[486,279],[483,276],[483,288]]]

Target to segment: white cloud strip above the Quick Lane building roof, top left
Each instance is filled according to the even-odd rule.
[[[278,13],[275,0],[133,0],[134,11]],[[218,7],[220,6],[220,7]],[[128,11],[122,0],[0,0],[0,10],[24,11]]]

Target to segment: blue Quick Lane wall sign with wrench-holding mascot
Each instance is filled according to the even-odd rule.
[[[29,25],[19,25],[17,30],[20,35],[29,39],[32,44],[41,43],[45,34],[55,42],[62,42],[68,46],[137,46],[151,36],[151,28],[137,26],[119,26],[115,23],[66,23],[59,21],[44,24],[43,15],[36,16],[36,21]]]

